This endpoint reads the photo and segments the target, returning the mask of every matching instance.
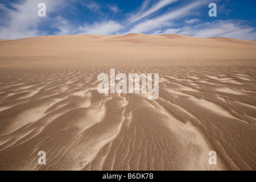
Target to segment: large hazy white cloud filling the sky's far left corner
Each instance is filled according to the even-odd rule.
[[[43,32],[38,30],[38,24],[43,18],[38,16],[38,4],[47,4],[47,14],[63,7],[65,1],[60,0],[24,0],[19,3],[11,3],[13,9],[2,6],[5,23],[0,25],[0,39],[20,39],[32,36],[40,36]]]

